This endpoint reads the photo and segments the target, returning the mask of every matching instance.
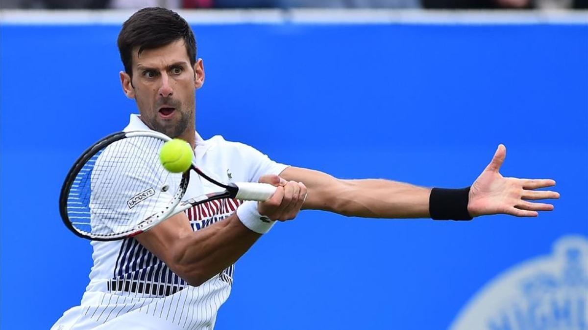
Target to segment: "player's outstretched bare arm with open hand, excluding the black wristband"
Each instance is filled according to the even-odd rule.
[[[506,148],[501,144],[490,164],[464,195],[463,205],[464,208],[467,206],[467,213],[472,217],[489,214],[536,217],[537,211],[553,210],[552,204],[532,203],[530,200],[559,198],[555,191],[536,190],[554,186],[555,181],[503,177],[499,169],[505,157]],[[280,177],[305,184],[308,188],[308,197],[303,204],[305,209],[369,218],[431,217],[431,188],[380,179],[341,180],[299,167],[288,167]]]

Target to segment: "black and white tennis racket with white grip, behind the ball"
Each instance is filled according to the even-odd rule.
[[[222,198],[265,201],[276,190],[266,183],[220,183],[193,160],[184,173],[170,173],[159,162],[159,150],[169,140],[153,131],[118,132],[89,147],[61,189],[59,212],[66,227],[89,240],[121,240],[198,204]],[[219,191],[184,200],[192,171]]]

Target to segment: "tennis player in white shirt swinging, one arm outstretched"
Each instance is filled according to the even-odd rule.
[[[168,9],[142,9],[123,24],[118,47],[125,69],[122,89],[139,110],[125,130],[155,130],[186,140],[199,167],[220,181],[262,181],[278,188],[263,203],[213,201],[135,238],[92,242],[94,265],[81,304],[66,311],[52,329],[212,329],[229,297],[235,261],[276,221],[291,220],[302,208],[355,217],[471,220],[489,214],[536,217],[553,206],[530,200],[559,198],[554,191],[536,190],[554,186],[553,180],[500,175],[506,156],[502,145],[472,186],[454,190],[339,180],[276,163],[220,136],[203,140],[195,132],[195,93],[205,70],[188,23]],[[116,180],[153,178],[121,173]],[[186,194],[212,189],[195,179]],[[96,192],[93,203],[100,203],[99,196]],[[135,206],[121,205],[101,208],[123,213]],[[256,308],[251,307],[253,315]]]

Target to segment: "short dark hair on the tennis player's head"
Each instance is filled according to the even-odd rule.
[[[186,52],[193,66],[196,63],[196,39],[194,33],[182,16],[169,9],[143,8],[133,14],[122,25],[118,35],[118,51],[121,53],[125,72],[132,76],[132,51],[139,48],[155,49],[183,39]]]

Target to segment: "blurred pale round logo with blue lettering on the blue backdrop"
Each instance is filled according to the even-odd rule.
[[[564,236],[552,254],[497,275],[449,329],[588,329],[588,240]]]

